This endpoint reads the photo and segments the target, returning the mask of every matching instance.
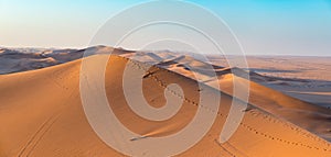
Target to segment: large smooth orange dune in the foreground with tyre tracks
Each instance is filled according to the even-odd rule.
[[[108,56],[95,55],[85,59],[98,57]],[[169,120],[145,120],[129,109],[124,97],[122,71],[128,61],[128,58],[111,56],[106,71],[106,93],[110,109],[120,122],[130,131],[150,137],[183,130],[196,114],[197,106],[193,105],[200,99],[196,81],[151,67],[152,76],[142,79],[143,94],[151,106],[164,105],[164,87],[170,83],[178,83],[184,93],[181,98],[190,101],[184,101],[178,114]],[[0,76],[0,156],[124,156],[103,143],[88,124],[79,97],[79,68],[81,60],[75,60]],[[232,78],[227,79],[231,81]],[[231,83],[227,82],[227,86],[224,89],[231,89]],[[229,141],[218,143],[232,103],[231,92],[226,94],[209,86],[203,89],[212,96],[222,92],[220,110],[214,111],[216,120],[196,145],[178,156],[331,156],[328,142],[258,108],[247,110]],[[271,103],[266,89],[255,90],[261,97],[253,96],[250,99],[258,99],[266,105]],[[293,101],[291,108],[296,106],[295,103],[298,102]]]

